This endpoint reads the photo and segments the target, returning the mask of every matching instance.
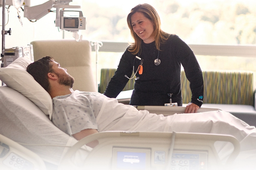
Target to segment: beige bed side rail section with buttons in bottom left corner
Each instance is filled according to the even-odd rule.
[[[0,134],[0,169],[46,170],[46,167],[37,154]]]

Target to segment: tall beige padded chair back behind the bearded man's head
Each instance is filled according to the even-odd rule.
[[[34,60],[51,56],[75,78],[73,90],[98,92],[91,65],[90,41],[43,40],[32,41]]]

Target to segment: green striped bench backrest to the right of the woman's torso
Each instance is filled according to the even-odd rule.
[[[253,72],[203,71],[204,103],[254,105]],[[181,71],[183,103],[191,100],[189,81]]]

